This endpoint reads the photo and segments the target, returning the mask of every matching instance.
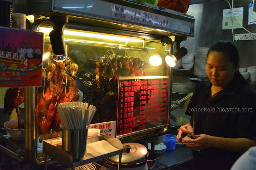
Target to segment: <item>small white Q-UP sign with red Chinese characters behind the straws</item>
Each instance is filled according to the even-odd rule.
[[[116,121],[90,124],[90,128],[100,129],[100,133],[111,137],[116,135]]]

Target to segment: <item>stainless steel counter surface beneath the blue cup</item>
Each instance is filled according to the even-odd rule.
[[[168,166],[178,166],[193,159],[192,150],[186,146],[176,147],[175,150],[158,154],[157,162]]]

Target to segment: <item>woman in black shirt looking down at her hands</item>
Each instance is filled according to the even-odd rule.
[[[238,49],[230,41],[218,41],[208,51],[209,81],[198,86],[180,127],[178,141],[193,151],[193,169],[230,169],[236,159],[256,146],[256,92],[238,70]]]

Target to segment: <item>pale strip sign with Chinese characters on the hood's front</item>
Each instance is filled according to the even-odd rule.
[[[112,4],[110,16],[118,20],[132,21],[134,23],[151,25],[160,28],[169,27],[168,17],[156,15],[151,12],[145,12],[143,10],[137,10],[135,8],[129,8],[127,6],[121,6],[117,4]]]

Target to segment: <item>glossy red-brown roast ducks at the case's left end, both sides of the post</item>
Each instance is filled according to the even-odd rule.
[[[36,100],[39,134],[60,127],[60,116],[56,109],[59,103],[78,101],[79,91],[72,78],[76,76],[77,70],[77,64],[69,60],[49,63],[43,69],[42,87],[38,88],[38,100]],[[4,113],[11,114],[15,107],[24,102],[24,88],[8,88],[4,101]]]

